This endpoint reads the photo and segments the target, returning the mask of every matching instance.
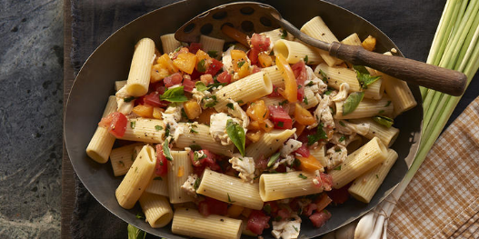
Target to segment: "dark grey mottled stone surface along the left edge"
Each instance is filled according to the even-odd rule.
[[[0,238],[58,238],[63,1],[0,0]]]

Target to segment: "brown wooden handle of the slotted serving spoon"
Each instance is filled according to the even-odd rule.
[[[332,43],[329,54],[353,65],[364,65],[415,85],[448,95],[463,95],[467,76],[458,71],[400,56],[382,55],[361,46]]]

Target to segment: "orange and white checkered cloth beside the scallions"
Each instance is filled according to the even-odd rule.
[[[437,139],[389,218],[388,238],[479,238],[479,97]]]

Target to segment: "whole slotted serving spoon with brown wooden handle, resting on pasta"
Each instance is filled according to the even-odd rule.
[[[463,73],[400,56],[370,52],[361,46],[326,43],[314,39],[286,21],[273,6],[261,3],[237,2],[216,6],[180,27],[175,32],[175,38],[191,43],[198,42],[199,36],[203,34],[232,40],[222,33],[221,28],[224,25],[246,31],[254,29],[258,33],[281,26],[305,44],[327,51],[329,55],[353,65],[369,66],[408,83],[422,85],[445,94],[457,96],[464,93],[467,79]]]

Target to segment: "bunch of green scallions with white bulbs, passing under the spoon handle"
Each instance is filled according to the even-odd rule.
[[[479,67],[479,0],[447,0],[443,15],[434,35],[427,63],[454,69],[467,75],[467,85],[471,83]],[[378,239],[386,238],[387,220],[407,184],[444,129],[449,117],[461,96],[445,95],[421,87],[424,102],[423,135],[414,163],[383,203],[365,214],[357,223],[345,225],[324,238]]]

